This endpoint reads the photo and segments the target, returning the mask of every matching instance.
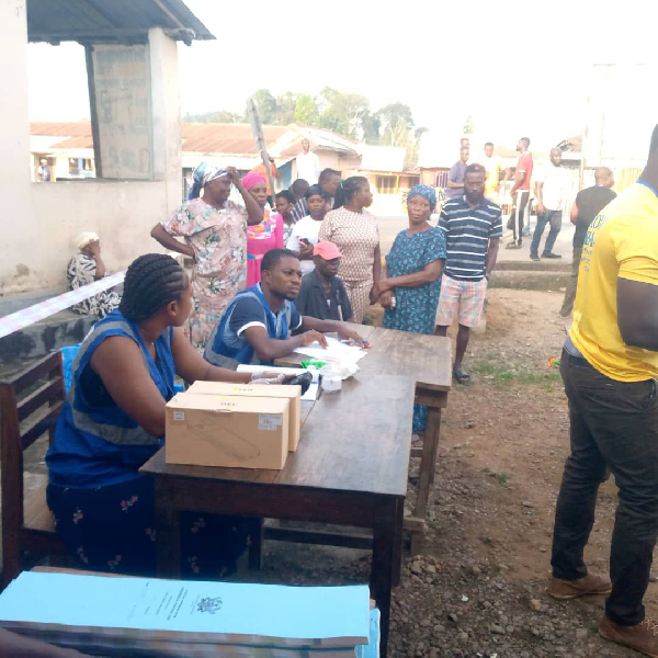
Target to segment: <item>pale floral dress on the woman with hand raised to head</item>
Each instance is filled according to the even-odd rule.
[[[161,225],[170,236],[185,238],[194,249],[190,338],[203,353],[224,310],[247,283],[247,211],[232,201],[218,211],[203,198],[194,198]]]

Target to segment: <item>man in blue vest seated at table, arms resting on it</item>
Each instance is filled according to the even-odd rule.
[[[322,332],[364,343],[341,322],[299,315],[293,299],[299,294],[302,269],[294,251],[268,251],[261,261],[261,282],[238,293],[222,316],[206,344],[206,361],[234,370],[240,363],[272,364],[316,341],[326,348]]]

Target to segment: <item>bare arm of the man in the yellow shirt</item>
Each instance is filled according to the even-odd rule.
[[[617,277],[617,327],[627,345],[658,351],[658,285]]]

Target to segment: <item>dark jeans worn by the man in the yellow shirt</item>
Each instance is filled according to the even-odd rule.
[[[582,552],[594,523],[599,485],[608,469],[619,491],[606,615],[632,626],[644,620],[658,535],[658,400],[656,382],[610,379],[563,350],[560,373],[569,399],[571,454],[555,510],[553,575],[587,575]]]

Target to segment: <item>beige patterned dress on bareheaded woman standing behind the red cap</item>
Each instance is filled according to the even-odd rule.
[[[345,207],[327,213],[319,240],[333,242],[342,253],[338,275],[342,279],[354,313],[361,324],[373,287],[375,249],[379,245],[377,219],[367,211],[353,213]]]

